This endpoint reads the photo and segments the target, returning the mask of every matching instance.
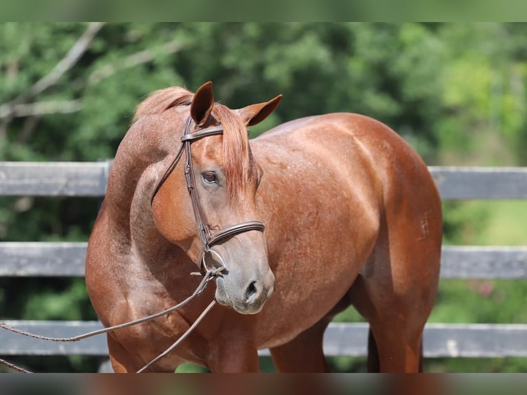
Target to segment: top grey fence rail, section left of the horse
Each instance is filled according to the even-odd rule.
[[[109,162],[0,162],[0,195],[103,196]]]

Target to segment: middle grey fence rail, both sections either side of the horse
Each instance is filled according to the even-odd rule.
[[[0,243],[0,276],[82,277],[86,243]],[[527,279],[527,247],[444,246],[443,279]]]

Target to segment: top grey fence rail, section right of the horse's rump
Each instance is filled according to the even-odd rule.
[[[526,167],[429,167],[442,200],[527,199]]]

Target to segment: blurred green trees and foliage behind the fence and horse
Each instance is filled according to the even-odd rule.
[[[113,158],[149,92],[206,81],[231,108],[283,94],[252,138],[294,118],[351,111],[385,122],[429,165],[527,166],[526,23],[0,23],[0,160]],[[0,197],[0,241],[87,241],[99,203]],[[525,246],[525,224],[526,202],[444,204],[445,244]],[[429,321],[527,323],[526,300],[522,280],[442,280]],[[96,319],[83,279],[0,278],[0,312]],[[351,309],[337,319],[362,321]],[[17,361],[38,372],[95,371],[100,362]],[[332,365],[365,371],[361,358]],[[426,367],[526,372],[527,359]],[[272,370],[268,359],[262,370]]]

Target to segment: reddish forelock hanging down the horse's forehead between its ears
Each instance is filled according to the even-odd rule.
[[[237,191],[247,187],[250,177],[250,158],[247,128],[233,110],[215,103],[213,117],[223,128],[223,166],[228,180],[228,193],[231,201],[235,200]]]

